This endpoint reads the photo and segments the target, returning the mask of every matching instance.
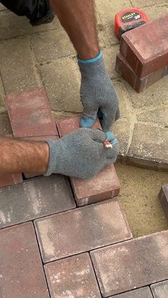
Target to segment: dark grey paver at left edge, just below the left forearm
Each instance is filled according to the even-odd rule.
[[[68,181],[60,175],[39,177],[0,188],[0,228],[75,207]]]

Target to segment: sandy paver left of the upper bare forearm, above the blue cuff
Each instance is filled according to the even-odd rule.
[[[38,62],[75,55],[73,44],[63,28],[34,34],[33,48]]]

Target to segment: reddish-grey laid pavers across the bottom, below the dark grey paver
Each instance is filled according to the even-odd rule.
[[[167,298],[168,231],[129,240],[125,227],[117,200],[36,220],[51,297]],[[1,296],[48,297],[33,224],[5,228],[0,237]]]

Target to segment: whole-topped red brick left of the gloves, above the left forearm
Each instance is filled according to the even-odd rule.
[[[7,95],[5,102],[14,137],[58,134],[43,88]]]

